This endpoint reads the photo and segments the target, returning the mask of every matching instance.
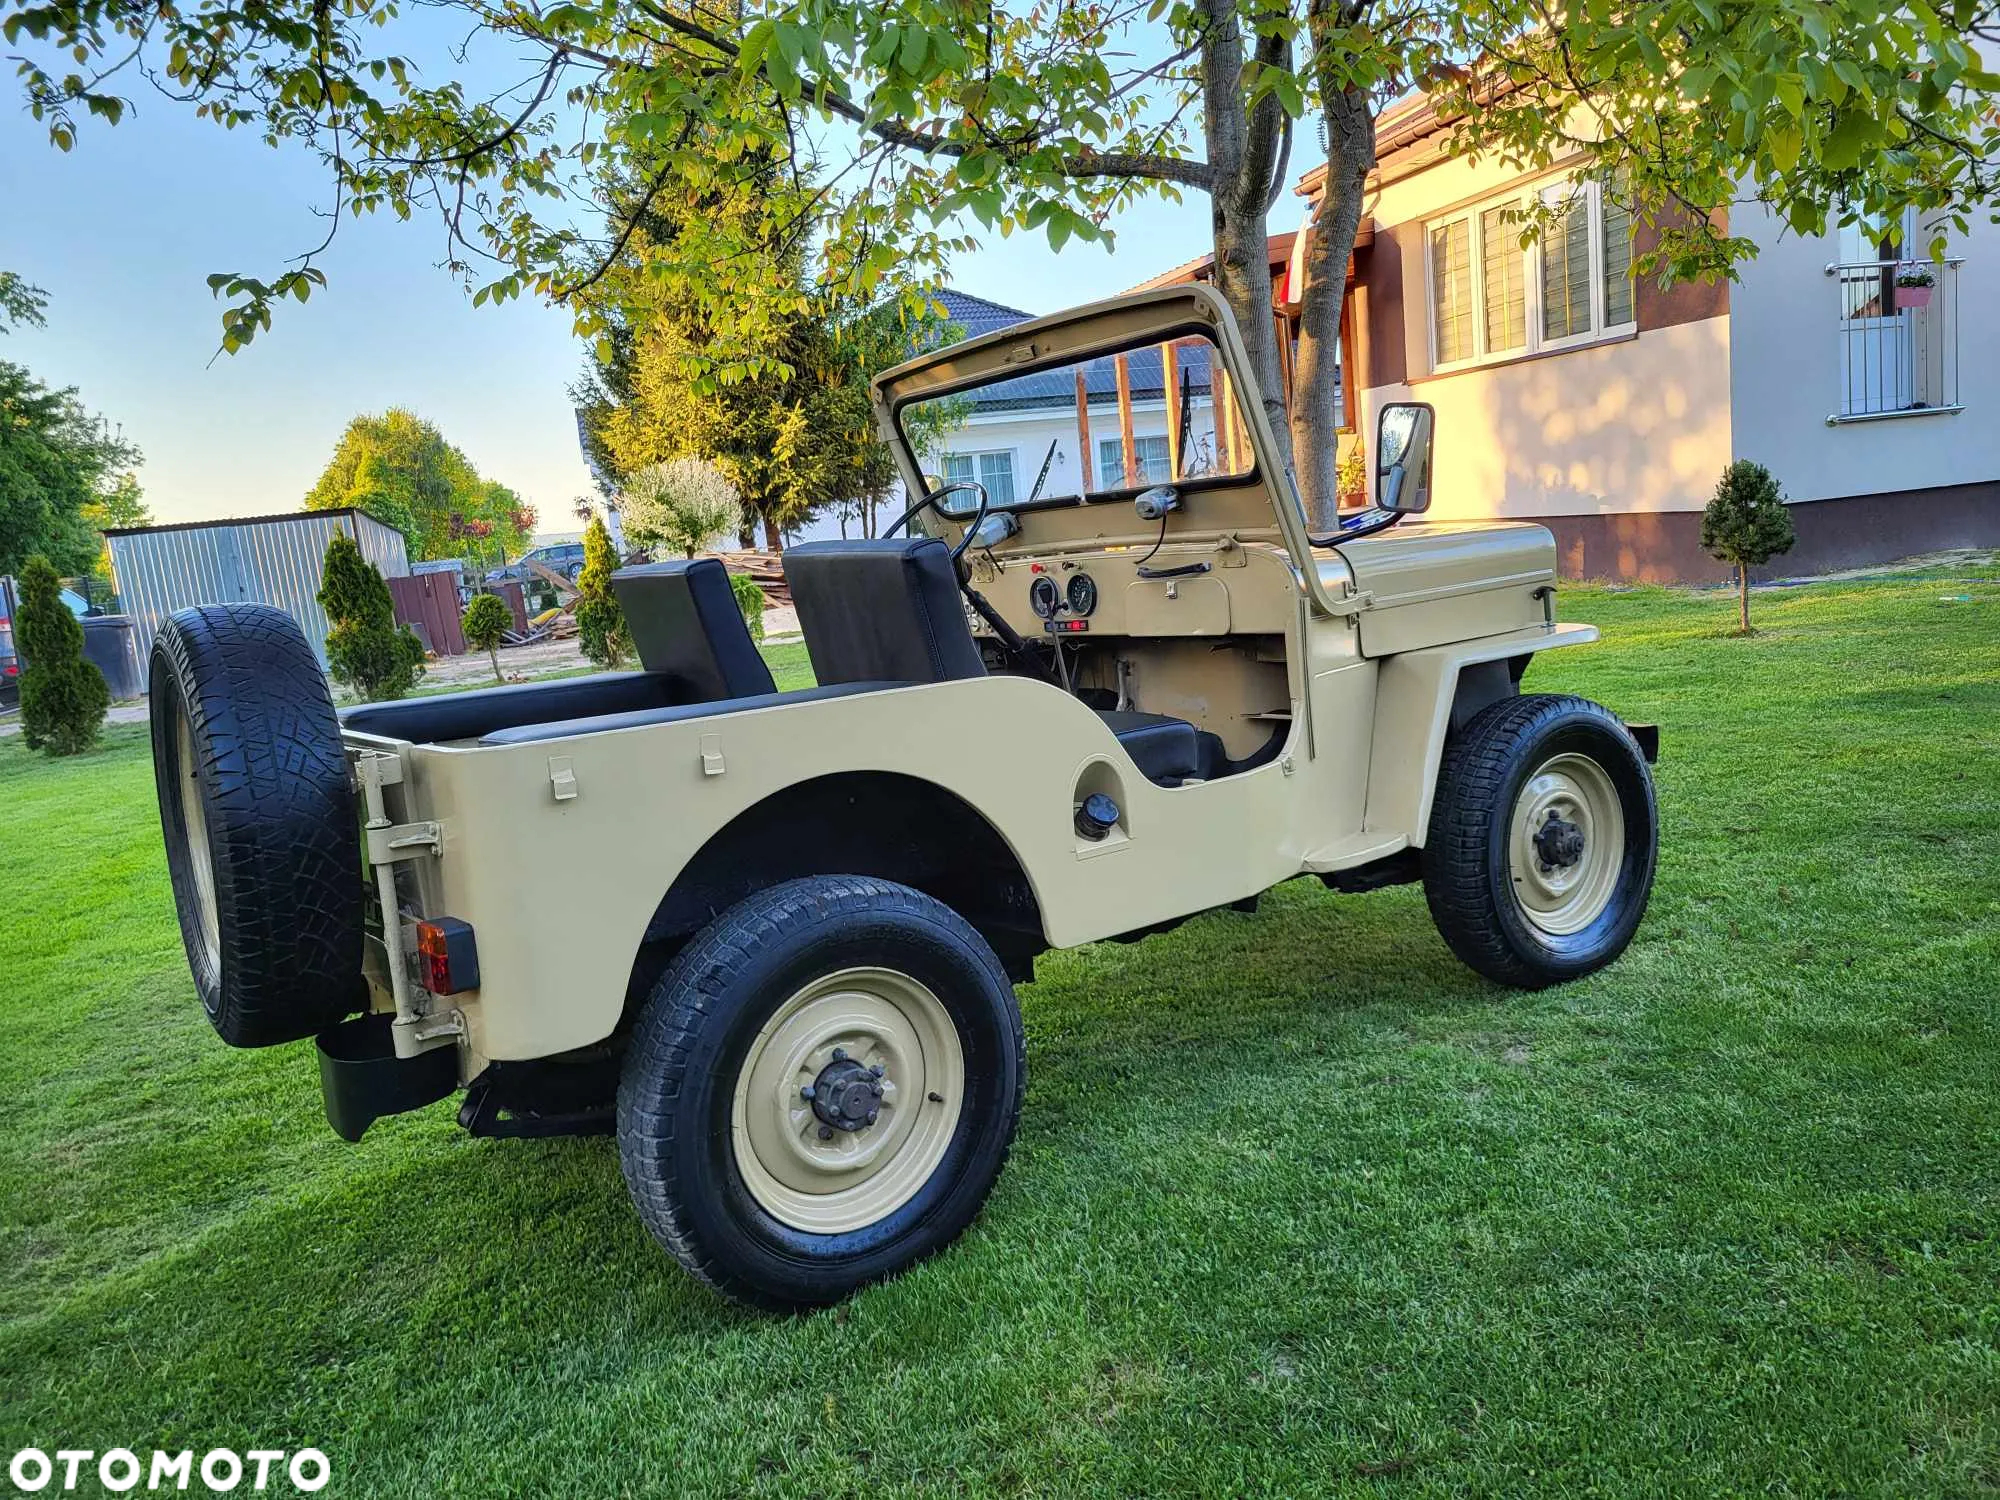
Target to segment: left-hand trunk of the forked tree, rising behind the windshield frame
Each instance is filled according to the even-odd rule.
[[[1202,40],[1202,124],[1208,136],[1216,290],[1236,314],[1250,352],[1264,416],[1278,436],[1280,462],[1290,462],[1292,434],[1284,420],[1284,370],[1270,294],[1270,196],[1274,148],[1252,142],[1244,112],[1244,36],[1234,0],[1198,0],[1206,18]],[[1216,430],[1222,414],[1216,412]]]

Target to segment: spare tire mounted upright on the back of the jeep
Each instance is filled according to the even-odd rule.
[[[166,868],[216,1032],[270,1046],[360,1010],[360,820],[298,622],[268,604],[176,612],[150,700]]]

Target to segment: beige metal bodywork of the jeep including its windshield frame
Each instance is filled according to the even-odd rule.
[[[388,820],[434,824],[438,852],[398,866],[404,920],[454,916],[476,932],[482,986],[428,998],[458,1016],[464,1080],[488,1062],[610,1038],[630,1014],[648,934],[704,850],[738,838],[774,798],[810,808],[842,778],[902,778],[912,794],[968,808],[1032,892],[1036,946],[1142,932],[1424,844],[1460,676],[1498,662],[1510,688],[1528,656],[1596,638],[1554,624],[1546,528],[1406,524],[1316,542],[1228,308],[1200,286],[912,360],[878,378],[878,416],[904,482],[922,494],[920,456],[896,422],[908,402],[1188,334],[1212,342],[1244,396],[1250,472],[1202,478],[1166,524],[1096,494],[1026,504],[1014,512],[1020,532],[966,564],[1022,634],[1042,624],[1032,580],[1086,570],[1098,606],[1092,634],[1076,638],[1070,686],[1214,734],[1230,774],[1154,784],[1074,692],[1004,672],[718,702],[714,714],[508,744],[346,730],[350,756],[400,764],[382,788]],[[968,518],[918,524],[958,540]],[[1092,792],[1120,814],[1100,840],[1076,826]],[[880,872],[818,870],[802,846],[796,874]],[[378,936],[378,1010],[390,1004],[384,958]]]

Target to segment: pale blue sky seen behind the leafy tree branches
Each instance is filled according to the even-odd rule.
[[[150,94],[118,128],[88,122],[70,154],[8,88],[0,114],[0,268],[50,294],[48,328],[0,338],[0,358],[74,384],[146,454],[158,520],[292,510],[356,412],[408,406],[560,530],[588,492],[566,388],[582,346],[560,308],[474,308],[444,270],[436,222],[344,224],[332,286],[288,304],[272,332],[212,358],[220,306],[206,276],[268,274],[324,232],[318,168],[222,132]],[[1290,200],[1272,228],[1292,228]],[[1120,292],[1208,250],[1208,200],[1146,202],[1114,252],[990,236],[954,266],[966,292],[1054,312]]]

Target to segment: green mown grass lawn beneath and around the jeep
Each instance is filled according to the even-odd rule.
[[[608,1140],[338,1142],[310,1046],[200,1014],[144,730],[0,740],[0,1454],[314,1444],[340,1496],[2000,1490],[2000,576],[1730,610],[1572,590],[1606,644],[1530,672],[1664,726],[1620,964],[1508,994],[1420,892],[1306,882],[1050,954],[984,1218],[790,1320],[682,1276]]]

